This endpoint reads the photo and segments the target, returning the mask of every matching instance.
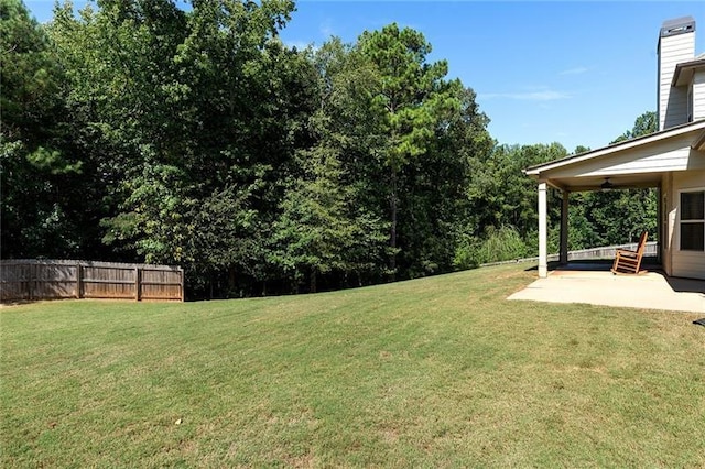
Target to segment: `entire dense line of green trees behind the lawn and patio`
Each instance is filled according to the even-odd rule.
[[[189,7],[64,3],[39,24],[0,0],[2,259],[180,264],[189,296],[213,297],[536,251],[521,170],[568,152],[496,142],[421,32],[389,24],[296,50],[279,37],[292,1]],[[621,138],[652,131],[651,114]],[[650,192],[574,200],[572,249],[655,226]]]

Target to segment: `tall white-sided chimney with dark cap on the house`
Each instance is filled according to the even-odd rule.
[[[659,34],[659,85],[657,112],[659,130],[687,122],[687,89],[673,88],[676,64],[695,58],[695,20],[676,18],[663,22]]]

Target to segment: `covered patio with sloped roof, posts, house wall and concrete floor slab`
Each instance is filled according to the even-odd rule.
[[[509,299],[586,303],[705,313],[705,120],[524,170],[539,185],[539,280]],[[568,263],[571,194],[657,189],[655,257],[636,275],[615,275],[609,261]],[[549,264],[549,188],[560,190],[561,246]],[[626,233],[627,236],[628,233]],[[626,240],[627,241],[627,240]]]

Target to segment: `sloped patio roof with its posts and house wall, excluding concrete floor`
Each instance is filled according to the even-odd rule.
[[[686,214],[702,211],[699,207],[694,209],[693,204],[701,204],[705,197],[705,120],[532,166],[524,173],[539,184],[539,277],[549,276],[546,193],[550,187],[562,194],[561,264],[568,261],[572,193],[652,187],[658,194],[658,229],[649,233],[649,240],[658,242],[658,260],[663,272],[670,276],[705,280],[704,241],[694,232],[705,220],[701,220],[699,215],[684,217],[682,210],[682,205],[687,203]]]

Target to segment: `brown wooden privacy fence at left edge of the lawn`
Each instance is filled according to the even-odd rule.
[[[53,298],[183,302],[184,271],[117,262],[0,260],[0,301]]]

